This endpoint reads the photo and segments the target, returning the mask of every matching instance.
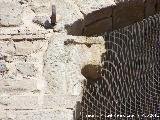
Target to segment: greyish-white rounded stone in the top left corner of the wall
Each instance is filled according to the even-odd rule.
[[[22,7],[16,2],[0,2],[0,26],[19,26],[22,24]]]

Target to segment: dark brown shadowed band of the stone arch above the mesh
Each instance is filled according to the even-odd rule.
[[[111,16],[105,17],[107,11],[101,9],[101,12],[93,12],[85,16],[84,20],[79,19],[71,25],[66,25],[65,28],[68,35],[101,36],[105,32],[128,26],[157,13],[160,11],[160,2],[157,1],[156,3],[154,1],[117,0],[117,4],[111,8]],[[94,17],[97,18],[94,20]]]

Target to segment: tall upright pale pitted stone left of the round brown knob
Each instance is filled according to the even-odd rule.
[[[67,89],[73,87],[69,86],[69,82],[73,77],[75,77],[74,80],[76,80],[72,82],[73,84],[76,84],[80,80],[83,81],[83,76],[78,74],[80,68],[78,68],[75,63],[70,64],[72,58],[70,58],[70,53],[64,46],[65,40],[67,40],[67,37],[64,34],[54,35],[49,42],[49,46],[44,57],[44,76],[48,82],[50,90],[54,94],[67,94]],[[79,64],[78,61],[77,63]],[[72,70],[74,69],[73,67],[77,67],[76,71]],[[72,76],[67,74],[72,74]],[[61,76],[61,79],[59,79],[59,75]],[[81,84],[79,85],[81,86]],[[75,92],[76,91],[72,89],[72,94],[76,94]]]

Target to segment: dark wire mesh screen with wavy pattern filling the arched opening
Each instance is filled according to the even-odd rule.
[[[101,79],[84,86],[80,120],[159,119],[160,15],[105,34]]]

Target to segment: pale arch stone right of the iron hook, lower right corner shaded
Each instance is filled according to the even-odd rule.
[[[63,8],[63,9],[62,9]],[[57,23],[55,31],[71,35],[82,35],[83,15],[72,1],[57,0]]]

